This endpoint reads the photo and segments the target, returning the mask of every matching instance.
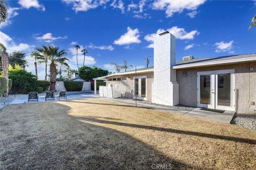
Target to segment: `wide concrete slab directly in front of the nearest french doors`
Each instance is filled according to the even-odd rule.
[[[186,116],[203,118],[205,120],[212,120],[218,122],[230,123],[235,115],[235,112],[225,111],[223,113],[203,111],[201,108],[195,108],[193,111],[189,111]]]

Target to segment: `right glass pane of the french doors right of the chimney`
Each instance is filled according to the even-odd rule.
[[[230,73],[218,74],[218,105],[230,106],[231,79]]]

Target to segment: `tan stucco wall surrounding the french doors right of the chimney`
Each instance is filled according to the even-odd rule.
[[[253,68],[250,71],[250,67]],[[235,104],[238,113],[254,113],[256,103],[256,62],[239,63],[229,65],[217,65],[190,69],[177,69],[177,81],[179,83],[179,104],[197,106],[197,72],[235,69]],[[187,73],[187,76],[183,76]]]

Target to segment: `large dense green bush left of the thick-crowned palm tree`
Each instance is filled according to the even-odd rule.
[[[23,69],[9,71],[9,78],[12,79],[12,92],[28,93],[35,91],[37,87],[36,75]]]

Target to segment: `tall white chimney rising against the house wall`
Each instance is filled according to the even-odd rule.
[[[176,82],[175,36],[166,31],[154,41],[154,82],[152,102],[175,106],[179,104],[179,84]]]

